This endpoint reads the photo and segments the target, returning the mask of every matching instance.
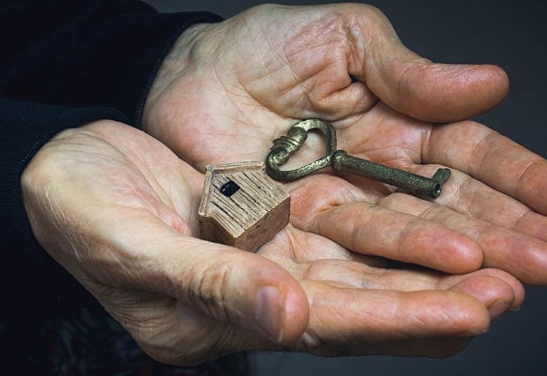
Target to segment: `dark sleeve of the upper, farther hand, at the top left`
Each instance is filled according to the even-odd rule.
[[[0,14],[0,96],[116,108],[137,124],[173,41],[190,25],[220,20],[133,0],[4,0]]]

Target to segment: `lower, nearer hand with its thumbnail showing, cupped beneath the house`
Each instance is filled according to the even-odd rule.
[[[290,225],[262,256],[199,240],[203,179],[112,121],[63,131],[22,176],[37,240],[159,361],[281,348],[447,356],[522,302],[503,271],[367,266]]]

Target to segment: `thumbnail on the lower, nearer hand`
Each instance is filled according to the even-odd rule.
[[[277,343],[283,339],[283,309],[283,297],[277,287],[261,287],[256,294],[256,321],[268,337]]]

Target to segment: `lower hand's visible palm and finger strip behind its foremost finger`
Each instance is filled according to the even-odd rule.
[[[291,226],[262,247],[260,252],[291,271],[298,280],[328,280],[371,290],[456,289],[473,295],[485,306],[505,302],[505,309],[507,304],[510,304],[510,309],[518,309],[525,296],[522,284],[513,275],[498,269],[444,275],[425,269],[393,268],[393,261],[390,263],[388,259],[348,252],[336,242]],[[467,287],[470,289],[461,290]]]

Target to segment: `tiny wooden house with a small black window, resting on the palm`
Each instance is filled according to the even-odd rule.
[[[199,229],[205,240],[251,252],[289,223],[290,197],[263,162],[207,166]]]

